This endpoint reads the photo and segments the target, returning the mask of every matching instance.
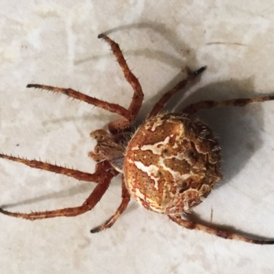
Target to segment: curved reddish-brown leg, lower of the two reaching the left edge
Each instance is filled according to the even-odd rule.
[[[92,210],[96,204],[100,201],[101,197],[105,194],[105,191],[110,186],[111,179],[113,177],[112,171],[105,171],[105,177],[97,184],[95,189],[92,191],[88,199],[84,201],[82,206],[77,206],[75,208],[64,208],[62,210],[50,210],[45,212],[31,212],[31,213],[19,213],[19,212],[9,212],[0,208],[0,213],[8,216],[13,216],[16,218],[23,218],[27,220],[38,220],[54,218],[58,216],[73,217],[80,214],[84,214],[88,210]]]

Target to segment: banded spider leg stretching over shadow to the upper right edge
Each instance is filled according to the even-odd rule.
[[[231,100],[223,100],[223,101],[207,100],[207,101],[201,101],[198,103],[192,103],[191,105],[188,105],[186,108],[184,108],[182,112],[192,115],[201,109],[224,107],[228,105],[243,107],[249,103],[264,102],[264,101],[271,101],[271,100],[274,100],[274,95],[258,97],[253,99],[240,98],[240,99],[231,99]]]

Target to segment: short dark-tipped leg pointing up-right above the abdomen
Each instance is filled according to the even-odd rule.
[[[160,100],[154,105],[153,109],[151,110],[151,112],[149,113],[149,116],[147,118],[150,118],[152,116],[156,116],[164,108],[164,104],[167,101],[169,101],[169,99],[171,99],[171,97],[173,95],[175,95],[176,92],[178,92],[179,90],[182,90],[182,88],[184,88],[186,86],[186,84],[191,82],[192,79],[194,79],[197,75],[201,74],[205,69],[206,69],[206,66],[202,66],[201,69],[198,69],[197,71],[192,73],[188,69],[188,67],[186,67],[186,70],[188,72],[188,76],[186,77],[186,79],[180,81],[174,88],[172,88],[171,90],[166,92],[160,98]]]

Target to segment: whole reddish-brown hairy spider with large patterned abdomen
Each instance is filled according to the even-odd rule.
[[[122,173],[122,201],[116,212],[102,225],[91,229],[91,233],[112,227],[125,211],[133,197],[142,206],[153,212],[166,214],[169,219],[186,227],[208,232],[221,238],[242,240],[260,245],[273,245],[274,240],[255,240],[230,233],[223,229],[201,225],[183,219],[182,215],[205,199],[221,175],[221,148],[212,130],[195,116],[201,109],[221,106],[243,107],[249,103],[273,100],[274,96],[255,99],[231,99],[224,101],[200,101],[192,103],[177,113],[163,112],[164,105],[176,92],[182,90],[192,79],[200,75],[206,67],[191,72],[174,88],[166,92],[155,103],[145,122],[133,132],[130,125],[136,119],[143,100],[143,92],[138,79],[129,70],[119,45],[105,34],[98,38],[110,45],[125,79],[132,86],[134,95],[129,108],[116,103],[108,103],[84,95],[71,88],[56,88],[40,84],[28,84],[27,88],[41,88],[60,92],[68,97],[85,101],[108,110],[121,117],[108,123],[108,132],[97,129],[90,136],[97,140],[94,151],[88,153],[97,161],[95,173],[85,173],[75,169],[48,164],[37,160],[14,157],[1,153],[0,158],[21,162],[35,169],[64,174],[97,186],[82,206],[45,212],[19,213],[0,208],[0,212],[27,220],[53,218],[57,216],[77,216],[92,210],[110,186],[113,177]]]

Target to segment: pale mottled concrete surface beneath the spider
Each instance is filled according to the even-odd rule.
[[[140,119],[181,79],[185,65],[208,69],[169,107],[274,93],[273,3],[153,3],[1,1],[1,151],[93,171],[88,134],[116,116],[25,86],[71,87],[127,106],[132,89],[97,39],[101,32],[110,31],[140,77]],[[201,219],[274,238],[273,114],[274,102],[199,113],[221,138],[224,174],[197,208]],[[94,188],[5,160],[0,177],[0,204],[14,211],[78,206]],[[75,218],[0,215],[1,273],[273,273],[274,246],[188,231],[134,201],[112,229],[91,235],[119,205],[120,186],[114,179],[96,208]]]

